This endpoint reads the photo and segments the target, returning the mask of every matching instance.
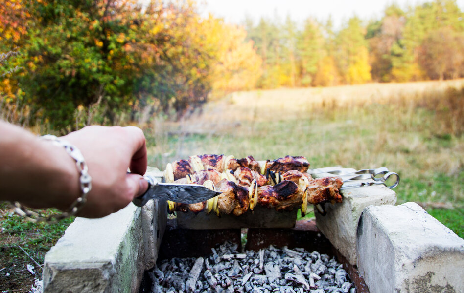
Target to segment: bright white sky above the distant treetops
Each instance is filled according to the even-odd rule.
[[[211,12],[227,22],[241,23],[245,15],[257,21],[261,16],[273,18],[276,13],[281,21],[289,14],[294,21],[302,22],[309,16],[326,20],[332,16],[335,28],[356,14],[362,20],[378,19],[386,6],[397,3],[403,10],[424,0],[203,0],[200,11]],[[199,1],[202,3],[202,0]],[[461,10],[464,0],[457,0]]]

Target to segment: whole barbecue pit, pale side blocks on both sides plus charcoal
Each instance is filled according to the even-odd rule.
[[[228,280],[225,277],[216,278],[221,284],[219,287],[225,292],[231,285],[234,290],[248,292],[245,288],[247,282],[255,282],[258,284],[254,284],[256,287],[269,291],[264,285],[271,284],[265,283],[264,277],[267,281],[269,277],[274,277],[275,286],[271,286],[272,292],[280,292],[282,287],[276,286],[283,286],[282,290],[290,290],[285,287],[289,283],[296,285],[292,288],[294,291],[294,288],[304,288],[303,291],[308,292],[301,275],[310,287],[311,276],[316,286],[321,280],[332,279],[337,283],[335,276],[323,278],[330,268],[335,270],[335,273],[342,269],[335,265],[334,261],[343,265],[347,272],[346,280],[348,281],[349,276],[352,282],[348,292],[353,288],[356,288],[358,293],[368,292],[367,286],[373,288],[372,292],[385,293],[394,290],[402,292],[405,288],[411,293],[426,292],[423,288],[448,288],[455,292],[464,292],[464,281],[460,276],[460,268],[464,268],[463,239],[413,203],[394,206],[395,194],[386,187],[349,188],[342,192],[342,196],[344,199],[341,204],[325,204],[325,216],[316,214],[317,227],[314,221],[297,221],[294,228],[249,228],[246,231],[240,227],[183,229],[177,225],[175,219],[169,220],[166,226],[166,203],[157,201],[150,201],[142,208],[131,204],[102,219],[77,218],[46,254],[44,292],[152,292],[153,284],[156,284],[157,280],[161,281],[160,273],[153,269],[155,264],[158,263],[158,268],[161,268],[163,261],[169,266],[174,258],[186,257],[195,258],[191,261],[192,268],[196,262],[196,267],[203,268],[203,271],[197,273],[198,270],[192,272],[190,267],[185,267],[188,276],[192,273],[192,278],[197,274],[200,278],[201,275],[205,277],[206,273],[205,280],[208,283],[207,277],[210,281],[212,278],[206,272],[206,259],[209,259],[211,275],[214,276],[216,273],[214,271],[213,274],[216,256],[214,253],[210,255],[213,248],[217,248],[216,254],[217,257],[222,256],[221,260],[224,254],[232,255],[226,260],[232,264],[231,268],[226,269],[226,276],[231,280],[231,284],[227,285]],[[401,219],[400,223],[397,223],[396,219]],[[247,236],[244,251],[241,241],[243,234]],[[218,245],[226,241],[232,244],[222,253]],[[269,248],[271,245],[273,248]],[[230,251],[235,247],[236,252]],[[259,251],[263,251],[261,254],[264,271],[258,272],[261,263],[259,261],[258,269],[254,272],[256,267],[252,267],[252,264],[255,264],[254,259],[259,259]],[[273,252],[276,257],[271,256],[274,255]],[[294,253],[294,257],[287,252]],[[240,265],[239,260],[242,256],[237,256],[243,253],[247,255],[247,264],[244,266],[249,266],[248,272]],[[274,265],[271,270],[271,264],[275,264],[273,261],[278,258],[277,254],[282,264],[282,267],[279,267],[281,277],[278,277],[280,275]],[[323,256],[324,254],[327,256]],[[270,258],[264,258],[265,255]],[[201,266],[200,257],[203,258]],[[295,259],[299,259],[296,262],[302,262],[302,265],[298,266],[300,272],[289,261],[284,262],[285,257],[293,258],[293,264]],[[248,264],[252,258],[252,263]],[[308,270],[305,269],[307,264],[303,265],[305,258],[311,259]],[[241,276],[233,279],[227,272],[235,266],[235,260],[239,271],[241,270]],[[318,269],[321,270],[321,265],[318,268],[315,265],[318,260],[328,260],[327,264],[323,263],[326,270],[320,274],[316,273]],[[267,265],[266,273],[267,263],[271,264]],[[233,272],[236,272],[236,267]],[[358,268],[361,271],[359,273]],[[257,277],[252,279],[250,275],[246,280],[250,272]],[[316,280],[317,277],[311,273],[321,279]],[[343,275],[343,272],[340,271],[339,275]],[[365,276],[366,283],[361,278],[362,275]],[[152,281],[153,277],[156,277],[155,282]],[[197,282],[193,282],[192,278],[188,281],[187,277],[186,291],[188,285],[192,289],[195,286],[193,292],[205,291],[205,283],[201,281],[200,290],[198,279]],[[345,283],[342,280],[340,276],[338,285],[342,286]],[[385,280],[388,280],[388,284]],[[235,284],[235,281],[239,283]],[[240,287],[242,281],[243,286]],[[222,286],[223,282],[225,287]],[[285,285],[281,285],[280,282],[285,282]],[[330,284],[327,287],[330,287]],[[342,292],[348,287],[346,284],[341,289]],[[254,290],[254,287],[252,289]],[[264,289],[258,289],[264,292]],[[208,292],[208,289],[206,291]]]

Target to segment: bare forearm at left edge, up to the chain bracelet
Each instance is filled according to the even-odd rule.
[[[0,121],[0,200],[67,209],[79,196],[78,171],[66,151]]]

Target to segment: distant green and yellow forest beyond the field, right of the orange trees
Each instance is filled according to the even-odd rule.
[[[435,0],[390,5],[380,19],[354,16],[338,31],[330,18],[247,17],[244,26],[263,60],[258,87],[327,86],[463,77],[463,17],[456,1]]]

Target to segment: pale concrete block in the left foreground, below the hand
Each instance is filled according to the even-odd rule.
[[[141,209],[76,218],[47,252],[44,292],[138,292],[145,269]]]

